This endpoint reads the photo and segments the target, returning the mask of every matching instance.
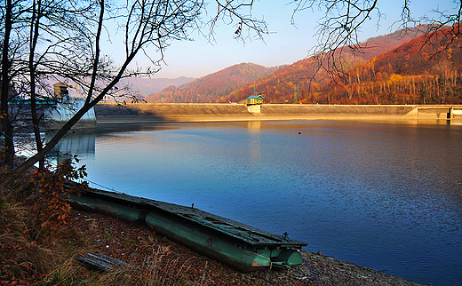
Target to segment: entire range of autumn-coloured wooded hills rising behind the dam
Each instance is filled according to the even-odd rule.
[[[342,72],[320,65],[315,57],[276,68],[244,63],[146,100],[226,103],[260,94],[266,103],[461,104],[462,40],[454,36],[455,28],[374,37],[359,53],[346,47],[339,62]]]

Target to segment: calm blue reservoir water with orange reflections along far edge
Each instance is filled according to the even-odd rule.
[[[81,157],[92,182],[194,203],[287,232],[307,242],[307,250],[413,282],[462,284],[462,126],[307,121],[112,128],[64,143],[87,153]]]

